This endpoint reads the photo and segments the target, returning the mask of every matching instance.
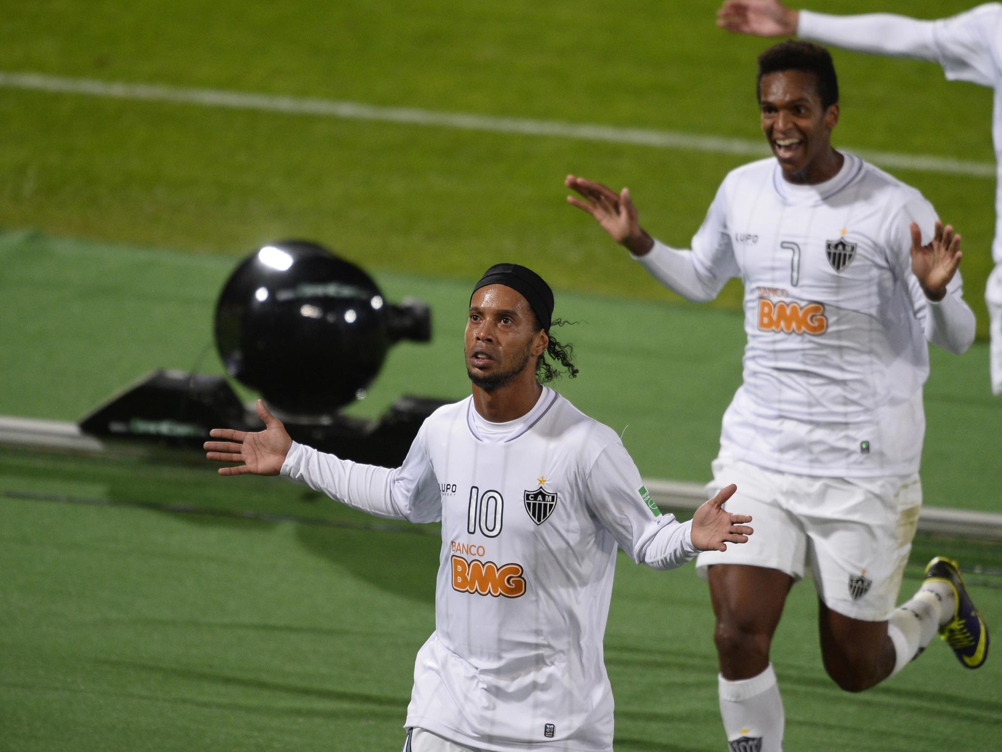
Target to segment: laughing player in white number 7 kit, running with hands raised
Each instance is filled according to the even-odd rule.
[[[922,501],[927,340],[962,353],[974,315],[960,238],[912,187],[835,150],[831,55],[785,42],[759,59],[775,158],[723,180],[691,251],[643,231],[627,189],[568,175],[590,214],[650,274],[693,301],[744,285],[743,383],[723,416],[714,482],[756,518],[750,542],[699,554],[716,617],[720,714],[731,750],[783,744],[770,663],[791,587],[810,565],[825,668],[858,692],[900,671],[942,630],[970,668],[988,632],[956,565],[936,557],[895,610]]]

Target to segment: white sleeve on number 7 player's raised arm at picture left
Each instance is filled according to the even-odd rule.
[[[717,190],[706,218],[692,237],[691,251],[678,251],[654,241],[649,253],[633,258],[655,280],[686,300],[698,303],[713,300],[727,280],[740,276],[727,232],[723,185]]]

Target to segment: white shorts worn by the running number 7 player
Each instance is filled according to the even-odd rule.
[[[800,581],[809,565],[828,608],[865,622],[890,617],[922,506],[918,473],[816,477],[722,455],[712,467],[706,493],[736,483],[724,508],[750,514],[755,534],[726,551],[702,551],[695,565],[701,578],[713,565],[734,563],[779,570]]]

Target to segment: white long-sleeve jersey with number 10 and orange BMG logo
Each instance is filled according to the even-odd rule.
[[[294,443],[282,473],[379,516],[442,522],[407,726],[499,752],[608,752],[617,543],[671,569],[696,553],[691,523],[661,515],[615,432],[553,390],[504,440],[481,437],[473,411],[472,398],[437,410],[396,469]]]

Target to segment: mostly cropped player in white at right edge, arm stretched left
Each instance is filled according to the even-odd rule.
[[[995,90],[995,268],[985,286],[985,303],[992,391],[1002,394],[1002,4],[986,3],[952,18],[919,21],[891,13],[835,16],[797,11],[780,0],[728,0],[717,13],[717,25],[745,34],[797,34],[858,52],[929,60],[942,65],[951,81],[970,81]]]

